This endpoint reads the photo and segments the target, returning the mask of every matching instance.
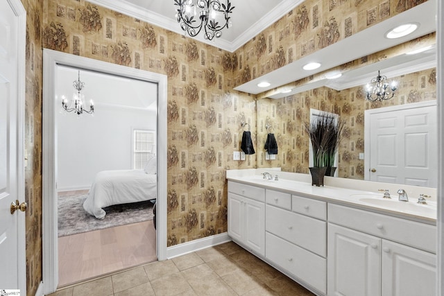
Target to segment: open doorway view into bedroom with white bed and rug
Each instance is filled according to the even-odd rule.
[[[157,260],[157,83],[63,65],[56,77],[60,288]],[[78,85],[94,113],[62,108]]]

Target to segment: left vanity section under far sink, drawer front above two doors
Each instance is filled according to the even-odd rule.
[[[250,252],[265,255],[265,189],[228,182],[228,235]]]

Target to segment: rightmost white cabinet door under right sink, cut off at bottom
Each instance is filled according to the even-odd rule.
[[[382,295],[436,295],[436,255],[384,240]]]

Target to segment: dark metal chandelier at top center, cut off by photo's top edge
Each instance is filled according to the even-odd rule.
[[[230,0],[221,3],[221,0],[174,0],[176,19],[185,34],[195,37],[202,28],[203,37],[213,40],[222,36],[222,29],[229,28],[231,21],[229,14],[234,6]]]

